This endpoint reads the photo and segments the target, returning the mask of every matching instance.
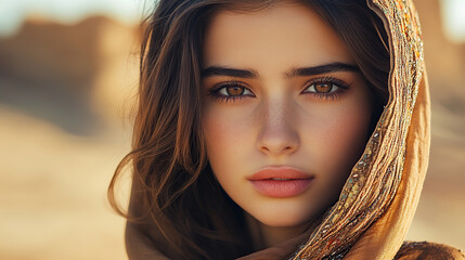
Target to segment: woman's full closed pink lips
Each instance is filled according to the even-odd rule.
[[[267,167],[247,178],[258,193],[277,198],[303,193],[313,179],[314,177],[292,167]]]

